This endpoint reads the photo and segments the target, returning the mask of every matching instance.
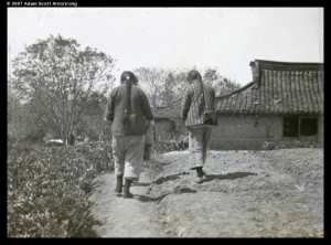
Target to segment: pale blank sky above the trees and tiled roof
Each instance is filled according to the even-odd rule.
[[[51,34],[138,67],[216,67],[242,86],[249,62],[324,62],[323,8],[8,8],[13,58]]]

